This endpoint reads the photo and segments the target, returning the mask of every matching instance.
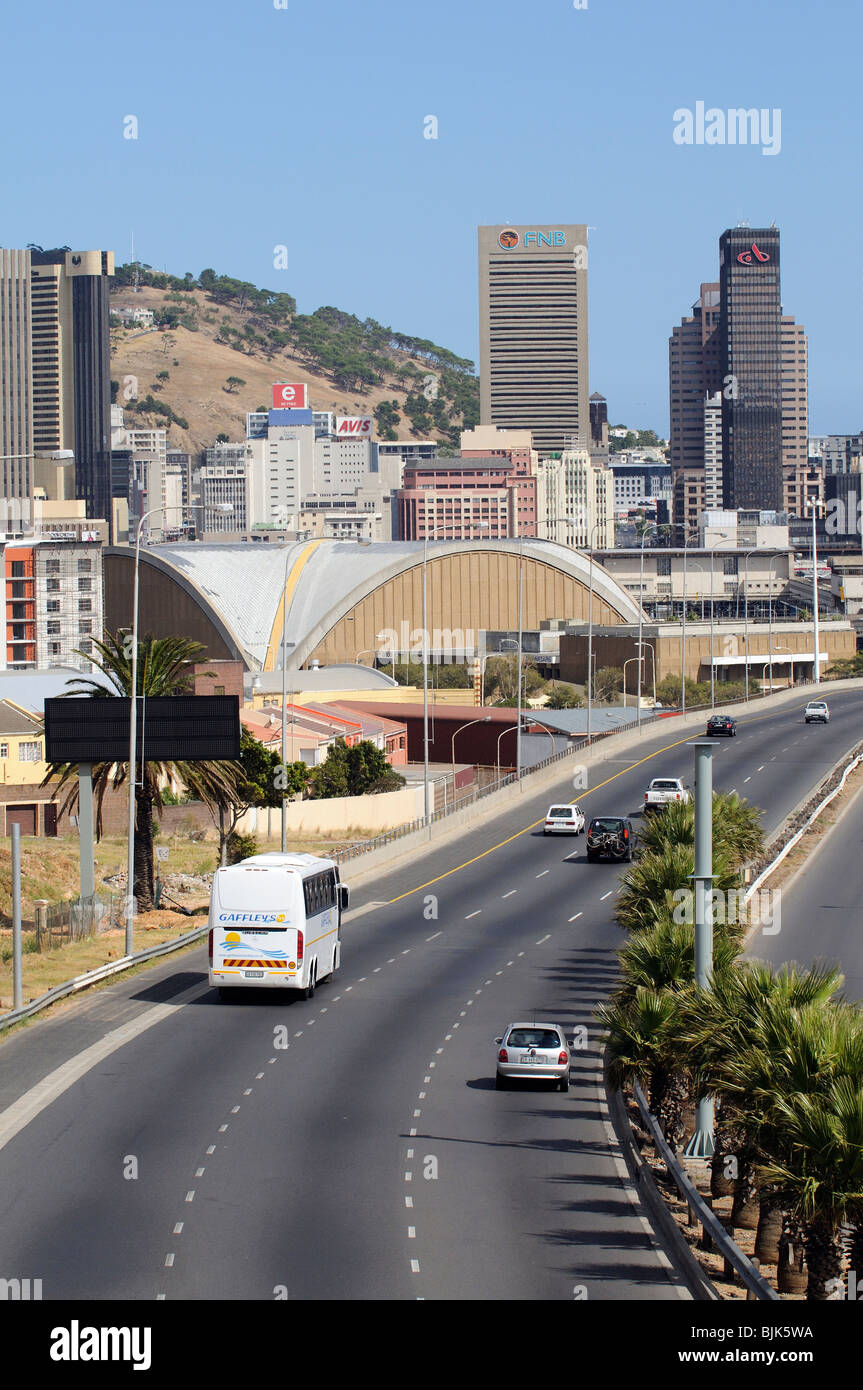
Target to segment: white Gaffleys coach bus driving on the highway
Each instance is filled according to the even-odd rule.
[[[310,999],[340,960],[349,890],[332,859],[253,855],[217,869],[210,894],[210,984],[295,990]]]

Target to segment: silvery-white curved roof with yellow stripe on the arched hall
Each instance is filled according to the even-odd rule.
[[[491,550],[521,553],[550,564],[585,587],[588,556],[549,541],[429,541],[428,557]],[[213,610],[252,669],[272,670],[282,638],[282,596],[286,595],[288,645],[292,664],[302,664],[331,627],[356,603],[396,574],[422,563],[422,541],[296,541],[274,545],[157,545],[140,553]],[[593,592],[624,623],[638,621],[638,605],[593,562]],[[563,617],[564,614],[561,614]]]

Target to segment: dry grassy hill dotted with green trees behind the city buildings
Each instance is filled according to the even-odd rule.
[[[151,329],[115,310],[150,309]],[[111,378],[126,424],[168,425],[199,453],[245,438],[246,411],[268,409],[272,382],[306,382],[314,410],[368,414],[379,439],[457,446],[479,418],[474,364],[425,339],[325,307],[297,314],[290,295],[202,271],[199,279],[120,267],[111,286]]]

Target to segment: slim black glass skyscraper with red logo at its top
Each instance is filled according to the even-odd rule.
[[[775,227],[720,236],[725,507],[782,510],[782,304]]]

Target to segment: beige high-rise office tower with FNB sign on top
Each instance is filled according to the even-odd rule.
[[[548,455],[588,448],[588,232],[479,228],[479,411]]]

